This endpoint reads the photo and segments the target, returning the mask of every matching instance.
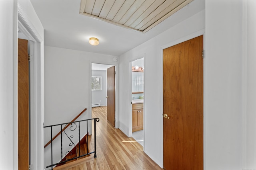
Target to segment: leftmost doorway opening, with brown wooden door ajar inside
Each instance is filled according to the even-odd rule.
[[[18,29],[18,167],[36,165],[35,40],[22,26]],[[22,30],[22,31],[21,31]],[[41,128],[41,126],[40,126]]]

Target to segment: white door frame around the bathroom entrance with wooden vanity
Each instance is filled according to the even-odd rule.
[[[136,56],[136,57],[134,57],[134,58],[132,58],[131,60],[129,60],[129,95],[130,95],[130,99],[129,99],[129,105],[130,105],[130,114],[129,114],[129,120],[130,120],[130,123],[129,123],[129,137],[132,137],[132,62],[133,61],[135,61],[135,60],[138,60],[138,59],[144,59],[144,67],[145,67],[145,57],[146,57],[146,55],[145,55],[145,53],[143,53],[143,54],[140,54],[140,55],[138,55],[138,56]],[[144,70],[144,82],[145,82],[145,70]],[[144,99],[145,99],[145,83],[144,83],[144,85],[143,85],[143,90],[144,90]],[[145,110],[146,110],[146,108],[145,108],[145,100],[144,100],[144,102],[143,102],[143,123],[145,124]],[[143,129],[145,129],[145,126],[143,125]],[[144,138],[145,138],[145,131],[144,131]],[[145,146],[145,140],[143,141],[143,146]],[[143,150],[144,150],[144,147],[143,147]]]

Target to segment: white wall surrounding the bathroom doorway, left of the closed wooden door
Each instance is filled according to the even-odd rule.
[[[185,11],[183,11],[185,12]],[[129,62],[145,54],[145,89],[144,89],[144,152],[158,165],[162,166],[162,48],[174,41],[189,36],[199,36],[204,33],[204,10],[178,23],[164,33],[150,39],[138,47],[120,56],[120,129],[129,136],[130,132],[130,88]],[[179,14],[177,14],[179,15]],[[189,28],[189,29],[188,29]],[[187,37],[188,38],[188,37]],[[186,39],[186,38],[185,38]],[[185,40],[184,40],[185,41]]]

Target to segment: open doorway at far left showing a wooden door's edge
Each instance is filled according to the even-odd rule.
[[[31,48],[32,47],[32,48]],[[34,150],[34,124],[31,121],[33,81],[31,81],[30,54],[33,56],[33,42],[18,30],[18,168],[29,168]],[[32,79],[33,80],[33,79]],[[32,137],[32,138],[31,138]]]

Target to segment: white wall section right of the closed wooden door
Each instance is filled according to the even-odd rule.
[[[245,59],[242,2],[206,0],[204,145],[207,170],[245,168],[242,167],[245,114],[242,110]]]

